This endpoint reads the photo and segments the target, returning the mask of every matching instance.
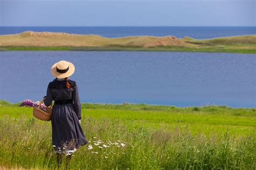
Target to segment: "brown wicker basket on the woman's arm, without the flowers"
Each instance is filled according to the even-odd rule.
[[[46,112],[43,111],[40,106],[43,103],[45,98],[43,98],[37,107],[33,107],[33,116],[37,119],[44,120],[44,121],[50,121],[51,120],[51,108],[52,104],[49,107],[46,107]]]

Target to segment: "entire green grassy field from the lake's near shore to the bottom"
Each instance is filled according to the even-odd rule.
[[[34,118],[32,108],[0,105],[0,165],[57,168],[51,121]],[[81,120],[93,149],[80,147],[68,169],[256,168],[256,108],[87,103]],[[109,147],[94,145],[99,140]]]

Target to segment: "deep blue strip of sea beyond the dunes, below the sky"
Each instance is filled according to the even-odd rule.
[[[24,31],[50,31],[76,34],[95,34],[104,37],[125,36],[185,36],[207,39],[226,36],[255,35],[255,26],[77,26],[77,27],[0,27],[0,35]]]

